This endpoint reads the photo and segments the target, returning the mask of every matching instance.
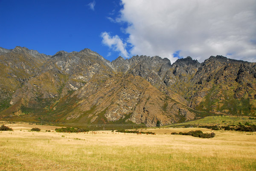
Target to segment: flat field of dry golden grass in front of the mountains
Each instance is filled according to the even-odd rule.
[[[253,171],[256,133],[214,131],[212,139],[171,132],[206,128],[156,128],[156,135],[111,131],[45,132],[55,127],[9,125],[0,131],[1,171]],[[34,125],[35,126],[35,125]]]

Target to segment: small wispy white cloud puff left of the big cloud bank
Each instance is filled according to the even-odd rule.
[[[111,37],[109,33],[103,32],[101,34],[101,37],[103,38],[102,43],[104,45],[108,46],[114,51],[118,51],[119,55],[121,55],[122,57],[129,57],[128,52],[125,49],[126,43],[123,43],[118,35]]]

